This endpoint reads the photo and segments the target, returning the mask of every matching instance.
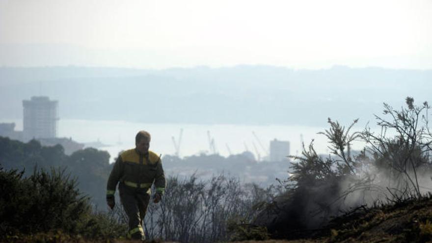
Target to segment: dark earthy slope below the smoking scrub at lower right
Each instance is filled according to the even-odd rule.
[[[405,200],[393,205],[359,207],[334,218],[322,229],[293,232],[305,236],[296,240],[268,240],[260,243],[350,243],[350,242],[431,242],[432,197]],[[293,235],[293,236],[294,236]],[[243,241],[256,243],[258,241]],[[237,242],[240,243],[240,242]]]

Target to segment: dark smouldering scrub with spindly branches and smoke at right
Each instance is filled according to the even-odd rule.
[[[303,145],[301,156],[290,156],[297,162],[292,164],[292,175],[281,181],[285,192],[264,207],[253,225],[265,226],[272,238],[344,241],[361,235],[362,229],[378,227],[377,221],[369,224],[367,218],[372,220],[376,214],[384,218],[383,210],[412,208],[417,202],[426,207],[432,188],[429,110],[428,103],[416,106],[410,97],[400,110],[384,104],[383,114],[376,115],[378,132],[368,125],[352,132],[357,120],[345,128],[328,119],[330,128],[320,134],[328,138],[330,155],[318,155],[312,141]],[[356,140],[365,147],[352,155],[350,146]],[[432,216],[425,213],[416,223],[423,230],[400,228],[400,237],[428,239],[431,223],[425,215]],[[368,226],[357,227],[359,220],[359,225]],[[385,234],[397,232],[393,227]],[[423,235],[414,237],[415,232]]]

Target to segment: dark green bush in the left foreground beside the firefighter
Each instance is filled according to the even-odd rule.
[[[87,196],[64,170],[24,171],[0,167],[0,235],[60,231],[85,238],[116,238],[126,226],[112,216],[93,213]]]

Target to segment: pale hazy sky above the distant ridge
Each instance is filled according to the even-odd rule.
[[[432,0],[0,0],[0,65],[432,68]]]

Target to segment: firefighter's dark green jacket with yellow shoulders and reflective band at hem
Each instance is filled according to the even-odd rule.
[[[163,194],[166,182],[161,157],[152,151],[147,154],[140,154],[135,149],[124,151],[109,174],[107,195],[114,195],[118,182],[131,188],[148,189],[149,194],[155,184],[156,190]]]

